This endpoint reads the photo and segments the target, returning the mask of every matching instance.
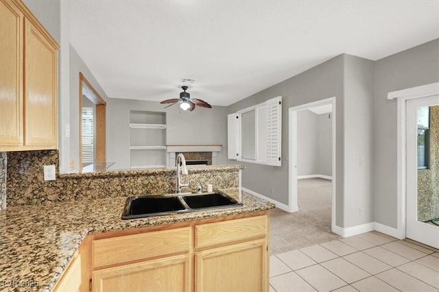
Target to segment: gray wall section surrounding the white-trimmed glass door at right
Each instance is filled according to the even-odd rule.
[[[396,101],[388,92],[439,81],[439,40],[432,40],[375,62],[374,217],[396,228]]]

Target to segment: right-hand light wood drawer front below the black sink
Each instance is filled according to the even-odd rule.
[[[266,215],[195,226],[195,248],[228,243],[252,237],[265,237]]]

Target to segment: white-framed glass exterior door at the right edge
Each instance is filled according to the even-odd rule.
[[[439,95],[405,109],[406,237],[439,248]]]

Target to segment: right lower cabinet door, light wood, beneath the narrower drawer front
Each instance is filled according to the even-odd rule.
[[[195,254],[195,291],[268,291],[267,241],[249,241]]]

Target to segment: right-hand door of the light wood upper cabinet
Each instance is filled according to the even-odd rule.
[[[57,51],[25,19],[25,146],[57,146]]]

